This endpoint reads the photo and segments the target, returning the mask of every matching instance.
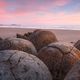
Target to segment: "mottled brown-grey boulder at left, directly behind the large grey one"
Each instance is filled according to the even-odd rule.
[[[37,54],[34,45],[29,40],[7,38],[0,41],[0,50],[20,50],[33,55]]]

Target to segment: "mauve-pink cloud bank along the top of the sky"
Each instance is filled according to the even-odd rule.
[[[0,6],[7,12],[47,11],[50,7],[64,6],[70,0],[0,0]]]

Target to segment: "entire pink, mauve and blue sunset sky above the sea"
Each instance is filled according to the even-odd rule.
[[[0,24],[80,25],[80,0],[0,0]]]

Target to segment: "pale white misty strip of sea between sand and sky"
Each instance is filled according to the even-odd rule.
[[[37,29],[63,29],[80,30],[80,25],[2,25],[1,28],[37,28]]]

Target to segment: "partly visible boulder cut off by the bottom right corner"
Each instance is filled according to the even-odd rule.
[[[64,80],[80,80],[80,60],[76,62]]]

